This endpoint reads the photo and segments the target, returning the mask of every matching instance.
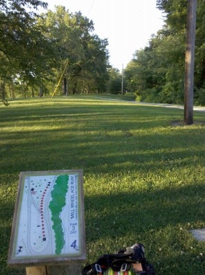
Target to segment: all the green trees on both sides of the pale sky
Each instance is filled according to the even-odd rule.
[[[125,68],[124,91],[145,102],[182,103],[186,48],[186,0],[157,0],[164,27]],[[109,65],[107,39],[94,34],[94,22],[63,6],[39,0],[0,0],[0,97],[122,91],[122,74]],[[205,104],[204,0],[197,1],[195,104]],[[63,74],[64,72],[64,74]]]

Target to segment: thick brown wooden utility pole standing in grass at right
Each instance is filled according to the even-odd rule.
[[[193,124],[193,75],[197,0],[188,0],[184,84],[184,123]]]

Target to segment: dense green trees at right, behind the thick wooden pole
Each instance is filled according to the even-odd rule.
[[[182,104],[184,100],[184,65],[186,43],[186,0],[158,0],[165,13],[165,25],[152,36],[149,45],[136,51],[125,70],[129,91],[138,100]],[[205,2],[197,1],[195,41],[195,104],[204,104]]]

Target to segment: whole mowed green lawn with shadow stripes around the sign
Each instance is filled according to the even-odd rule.
[[[19,173],[61,169],[83,169],[86,263],[140,242],[156,274],[204,274],[205,113],[172,126],[182,110],[105,97],[0,107],[0,274],[25,274],[7,267]]]

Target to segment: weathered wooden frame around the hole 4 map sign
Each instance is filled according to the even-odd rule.
[[[21,213],[21,202],[23,197],[23,186],[25,177],[32,176],[47,176],[47,175],[78,175],[78,220],[80,223],[79,242],[80,253],[79,255],[72,254],[58,254],[49,256],[34,256],[32,257],[15,257],[14,249],[16,248],[17,232],[19,216]],[[33,265],[63,265],[71,262],[83,262],[86,259],[85,252],[85,219],[84,219],[84,195],[83,195],[83,170],[46,170],[46,171],[25,171],[19,175],[19,185],[17,190],[17,200],[14,208],[14,216],[12,221],[12,232],[10,236],[10,248],[8,253],[8,265],[10,267],[20,266],[33,266]]]

